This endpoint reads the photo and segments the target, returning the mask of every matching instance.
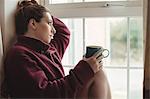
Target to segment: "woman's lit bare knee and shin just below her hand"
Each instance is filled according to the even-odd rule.
[[[109,83],[103,70],[95,74],[88,95],[92,99],[111,99]]]

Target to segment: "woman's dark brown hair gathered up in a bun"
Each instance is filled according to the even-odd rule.
[[[44,12],[49,12],[44,6],[39,5],[35,0],[24,0],[18,2],[15,13],[15,29],[17,35],[23,35],[27,32],[30,19],[40,22]]]

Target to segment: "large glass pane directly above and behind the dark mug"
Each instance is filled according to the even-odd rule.
[[[104,66],[126,66],[127,18],[86,18],[85,45],[109,49]]]

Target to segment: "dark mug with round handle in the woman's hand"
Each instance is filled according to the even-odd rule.
[[[97,51],[100,50],[100,55],[103,55],[103,58],[108,57],[109,55],[109,50],[108,49],[104,49],[102,46],[86,46],[86,54],[85,57],[89,58],[91,56],[94,55],[94,53],[96,53]],[[105,52],[105,54],[104,54]]]

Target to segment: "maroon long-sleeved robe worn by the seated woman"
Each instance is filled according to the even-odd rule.
[[[10,97],[74,98],[93,76],[89,64],[81,60],[69,75],[61,64],[69,44],[70,32],[53,18],[56,34],[50,44],[19,36],[5,59],[6,84]]]

